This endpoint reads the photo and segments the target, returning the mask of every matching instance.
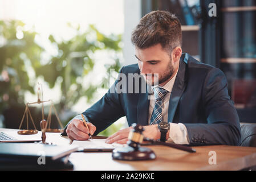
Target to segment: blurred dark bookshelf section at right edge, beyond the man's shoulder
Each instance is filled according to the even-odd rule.
[[[221,3],[220,68],[241,122],[256,122],[256,1]]]

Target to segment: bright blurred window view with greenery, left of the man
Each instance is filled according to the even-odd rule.
[[[123,32],[123,1],[1,0],[0,127],[19,127],[25,104],[37,101],[38,82],[63,125],[90,107],[121,68]],[[37,128],[41,107],[29,106]],[[49,108],[44,104],[44,118]],[[52,120],[51,127],[59,127]]]

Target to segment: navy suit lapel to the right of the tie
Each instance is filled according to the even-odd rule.
[[[178,102],[182,96],[182,93],[185,90],[185,72],[186,72],[186,63],[188,61],[188,54],[184,53],[180,59],[180,65],[178,68],[178,73],[173,85],[172,94],[170,96],[169,108],[168,108],[168,122],[173,122],[173,118],[178,106]]]

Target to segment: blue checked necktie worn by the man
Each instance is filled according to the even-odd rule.
[[[157,86],[154,88],[154,95],[155,95],[155,107],[153,113],[151,115],[150,124],[155,125],[162,121],[162,100],[164,99],[165,95],[168,93],[167,90]]]

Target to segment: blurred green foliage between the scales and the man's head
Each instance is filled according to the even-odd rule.
[[[96,89],[104,85],[104,78],[96,84],[82,84],[82,79],[95,67],[95,60],[92,57],[94,53],[113,51],[114,63],[105,65],[107,73],[109,69],[115,69],[116,72],[120,69],[117,53],[121,52],[121,35],[105,36],[92,25],[86,32],[81,33],[79,29],[80,27],[76,28],[76,35],[68,41],[57,42],[54,36],[50,35],[49,40],[57,47],[58,55],[53,56],[47,64],[35,68],[36,76],[43,76],[50,88],[55,86],[58,78],[62,80],[60,110],[71,108],[83,96],[88,102],[92,101]],[[90,36],[95,36],[95,39],[89,41]]]

